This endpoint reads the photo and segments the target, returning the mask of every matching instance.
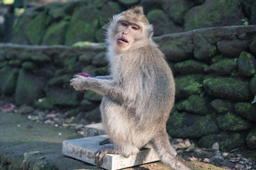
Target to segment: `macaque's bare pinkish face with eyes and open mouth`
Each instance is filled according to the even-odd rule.
[[[116,35],[114,36],[114,50],[125,52],[138,47],[143,38],[143,24],[126,20],[117,21]]]

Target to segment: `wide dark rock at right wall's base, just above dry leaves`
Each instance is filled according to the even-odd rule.
[[[221,132],[220,134],[206,135],[198,141],[200,147],[212,148],[218,142],[220,151],[230,152],[232,149],[245,145],[245,135],[242,132]]]

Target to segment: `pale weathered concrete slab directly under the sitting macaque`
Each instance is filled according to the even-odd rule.
[[[63,141],[63,154],[79,159],[82,162],[96,165],[95,152],[102,147],[99,145],[99,142],[105,139],[107,139],[107,135],[65,140]],[[106,154],[103,158],[103,164],[100,167],[110,170],[124,169],[130,166],[156,161],[159,161],[159,157],[154,152],[154,149],[151,149],[151,146],[147,145],[138,154],[131,155],[128,158],[124,158],[119,154]]]

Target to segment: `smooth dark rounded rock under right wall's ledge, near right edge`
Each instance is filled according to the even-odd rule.
[[[217,43],[218,50],[228,57],[239,57],[240,53],[247,49],[247,40],[222,40]]]

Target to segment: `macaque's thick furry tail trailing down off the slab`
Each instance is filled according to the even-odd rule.
[[[151,142],[156,153],[159,155],[161,162],[175,170],[191,170],[191,168],[179,161],[177,157],[171,153],[171,150],[169,149],[170,142],[167,134],[155,137]]]

